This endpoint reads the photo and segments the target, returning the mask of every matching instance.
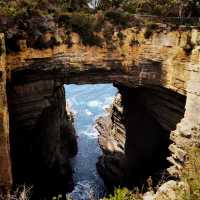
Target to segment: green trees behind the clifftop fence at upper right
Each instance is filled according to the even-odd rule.
[[[100,0],[99,9],[122,8],[130,13],[159,16],[200,16],[200,0]]]

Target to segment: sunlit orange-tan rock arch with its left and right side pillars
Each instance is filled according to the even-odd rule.
[[[22,51],[11,53],[6,57],[2,53],[1,186],[7,187],[12,184],[6,83],[7,86],[14,87],[18,94],[21,93],[22,97],[24,94],[29,95],[29,92],[38,89],[37,84],[34,88],[35,83],[41,84],[44,86],[44,90],[47,89],[46,91],[51,91],[50,93],[53,94],[52,88],[59,88],[63,83],[99,82],[118,82],[129,87],[157,85],[187,95],[185,118],[171,135],[175,144],[170,147],[173,153],[170,161],[174,164],[170,168],[170,172],[172,174],[179,172],[177,170],[180,169],[181,163],[184,163],[185,159],[185,147],[198,142],[193,127],[198,129],[200,121],[196,107],[200,100],[197,87],[200,82],[198,78],[200,77],[198,76],[199,32],[197,29],[169,32],[162,30],[155,32],[148,39],[144,37],[144,32],[145,29],[138,31],[137,28],[123,31],[126,37],[121,46],[119,39],[114,34],[113,37],[116,38],[116,48],[114,49],[83,46],[77,35],[74,34],[71,48],[67,48],[63,44],[45,50],[23,48]],[[130,45],[133,38],[138,41],[139,45]],[[188,38],[194,44],[190,55],[185,52]],[[1,41],[2,48],[4,48],[3,35],[1,35]],[[48,104],[48,102],[44,104]]]

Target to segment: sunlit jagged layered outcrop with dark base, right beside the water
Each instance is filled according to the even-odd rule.
[[[97,162],[97,169],[108,186],[124,182],[126,130],[123,111],[121,94],[118,93],[109,115],[100,117],[96,121],[96,129],[100,134],[98,142],[103,151]]]

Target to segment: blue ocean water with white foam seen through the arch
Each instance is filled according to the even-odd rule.
[[[78,154],[72,159],[75,189],[74,200],[99,199],[106,188],[96,170],[102,154],[98,145],[98,132],[94,128],[98,117],[106,115],[117,89],[112,84],[65,85],[66,100],[75,114],[78,135]]]

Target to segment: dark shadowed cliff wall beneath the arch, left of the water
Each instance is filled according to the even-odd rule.
[[[64,87],[38,81],[10,85],[8,92],[14,183],[35,184],[41,192],[72,189],[69,158],[77,144]]]

